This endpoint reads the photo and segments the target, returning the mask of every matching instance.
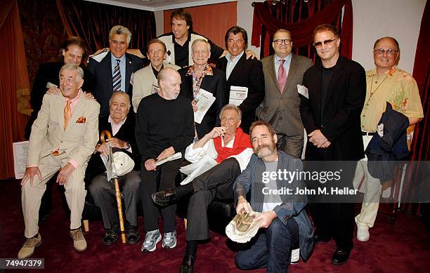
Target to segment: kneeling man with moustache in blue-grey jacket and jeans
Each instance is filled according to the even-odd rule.
[[[246,197],[250,191],[249,204],[261,213],[254,221],[261,220],[261,225],[249,245],[237,252],[235,262],[240,269],[267,267],[266,272],[287,272],[292,246],[299,244],[304,260],[313,248],[313,229],[304,209],[306,196],[295,194],[304,188],[304,182],[292,176],[303,166],[300,159],[276,149],[278,137],[271,124],[255,121],[249,133],[254,154],[236,179],[233,191],[237,213],[242,209],[249,213]],[[285,176],[285,171],[289,175]],[[278,194],[279,189],[292,192]]]

